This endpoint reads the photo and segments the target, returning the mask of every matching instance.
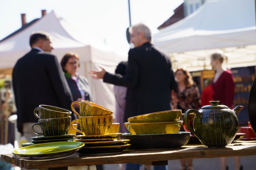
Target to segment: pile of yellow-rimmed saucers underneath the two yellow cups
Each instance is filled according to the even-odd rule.
[[[84,147],[79,151],[82,155],[121,153],[131,145],[128,144],[129,139],[120,139],[121,134],[77,135],[74,141],[84,143]]]

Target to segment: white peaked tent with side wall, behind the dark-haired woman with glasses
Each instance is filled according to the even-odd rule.
[[[103,83],[102,80],[92,79],[88,76],[88,71],[91,68],[97,69],[98,66],[102,66],[106,71],[114,73],[117,64],[127,60],[127,56],[119,55],[104,45],[97,44],[95,47],[89,43],[77,41],[73,38],[73,35],[77,33],[76,30],[72,30],[73,28],[68,26],[65,20],[58,18],[52,11],[26,29],[1,41],[0,68],[12,68],[20,57],[30,51],[30,34],[35,31],[45,31],[51,35],[54,47],[52,53],[57,56],[59,61],[67,52],[78,53],[80,58],[79,73],[89,80],[93,102],[115,111],[113,85]]]

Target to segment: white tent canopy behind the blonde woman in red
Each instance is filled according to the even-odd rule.
[[[174,67],[189,71],[211,69],[210,54],[217,50],[228,56],[228,67],[255,66],[255,1],[205,2],[155,34],[154,44],[170,54]]]

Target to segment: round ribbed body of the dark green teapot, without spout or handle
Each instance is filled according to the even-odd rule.
[[[209,147],[230,144],[238,129],[238,119],[231,109],[201,109],[195,116],[194,131],[199,140]]]

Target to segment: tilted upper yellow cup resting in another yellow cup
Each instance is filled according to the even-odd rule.
[[[74,104],[78,104],[80,106],[79,113],[77,113],[73,108]],[[77,116],[104,116],[113,114],[113,111],[85,100],[82,100],[81,102],[73,102],[71,104],[71,109]]]

